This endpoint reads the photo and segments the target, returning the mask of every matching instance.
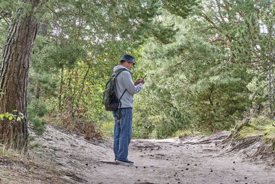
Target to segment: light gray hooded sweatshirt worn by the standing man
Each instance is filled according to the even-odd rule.
[[[126,69],[125,71],[120,72],[117,77],[116,83],[116,94],[118,95],[118,99],[123,94],[124,90],[126,92],[123,94],[121,101],[121,108],[133,108],[133,95],[137,94],[142,90],[143,83],[139,83],[138,85],[134,85],[132,74],[130,70],[128,70],[123,65],[117,65],[113,68],[113,72],[117,72],[120,69]]]

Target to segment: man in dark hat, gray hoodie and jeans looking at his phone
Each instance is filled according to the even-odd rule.
[[[113,72],[124,69],[117,76],[116,94],[120,99],[120,105],[113,111],[115,119],[115,130],[113,136],[113,152],[115,153],[115,162],[132,165],[128,160],[128,147],[132,138],[133,121],[133,95],[142,90],[144,79],[137,79],[133,83],[131,68],[135,64],[135,59],[130,54],[124,54],[120,65],[113,68]],[[122,96],[122,97],[121,97]]]

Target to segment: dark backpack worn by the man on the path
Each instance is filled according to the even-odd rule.
[[[102,103],[103,103],[103,105],[105,105],[105,110],[107,110],[107,111],[114,111],[114,110],[118,109],[120,99],[122,98],[123,94],[126,92],[126,90],[124,90],[124,92],[120,96],[120,99],[118,99],[115,94],[116,78],[122,71],[126,71],[126,70],[120,69],[117,72],[115,72],[114,74],[112,74],[112,76],[107,81],[107,84],[105,85]],[[121,103],[120,103],[120,106],[121,106]]]

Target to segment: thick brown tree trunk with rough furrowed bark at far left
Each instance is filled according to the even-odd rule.
[[[22,0],[31,10],[35,10],[40,0]],[[38,27],[34,12],[17,8],[10,24],[8,35],[3,46],[0,68],[0,114],[13,110],[27,116],[27,85],[29,61],[32,55],[32,44]],[[26,149],[28,144],[27,119],[21,121],[0,120],[0,141],[18,149]]]

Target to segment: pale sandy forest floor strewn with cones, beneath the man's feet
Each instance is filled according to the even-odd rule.
[[[112,139],[91,142],[48,125],[28,159],[0,156],[0,183],[275,183],[274,160],[227,150],[228,134],[134,139],[134,165],[116,165]]]

